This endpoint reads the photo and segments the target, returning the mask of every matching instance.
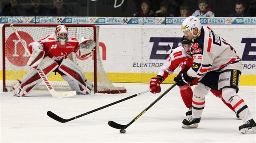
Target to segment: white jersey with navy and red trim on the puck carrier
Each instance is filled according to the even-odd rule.
[[[238,69],[242,72],[242,61],[234,48],[210,27],[202,27],[191,47],[194,64],[188,76],[200,78],[207,71]]]

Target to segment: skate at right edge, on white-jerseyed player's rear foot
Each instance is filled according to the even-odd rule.
[[[256,123],[253,119],[248,120],[242,126],[239,126],[239,130],[242,134],[255,134],[256,133]]]

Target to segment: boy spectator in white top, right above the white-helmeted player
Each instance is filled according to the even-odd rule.
[[[207,8],[207,0],[199,0],[198,7],[199,10],[196,10],[192,16],[195,17],[214,17],[214,13],[211,11],[210,8]]]

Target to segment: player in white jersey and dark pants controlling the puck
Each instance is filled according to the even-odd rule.
[[[221,90],[223,99],[232,105],[244,124],[243,134],[256,133],[256,124],[245,101],[237,95],[242,61],[235,49],[210,27],[202,27],[200,19],[187,17],[182,22],[184,35],[193,40],[191,47],[194,63],[189,70],[174,78],[178,86],[200,78],[193,90],[192,116],[184,119],[182,128],[196,128],[201,120],[208,90]]]

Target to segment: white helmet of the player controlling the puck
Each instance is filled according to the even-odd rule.
[[[187,17],[182,22],[181,28],[182,28],[183,33],[188,29],[192,33],[193,36],[197,36],[198,33],[200,32],[200,29],[202,28],[201,21],[200,21],[200,19],[198,19],[197,17],[194,17],[194,16]],[[193,34],[194,28],[198,29],[198,32],[196,35]]]

